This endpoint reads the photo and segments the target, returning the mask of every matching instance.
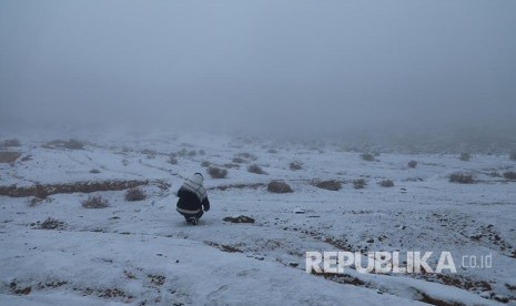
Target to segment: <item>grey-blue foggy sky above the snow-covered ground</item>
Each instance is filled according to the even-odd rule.
[[[516,131],[515,13],[512,0],[3,0],[0,120],[497,135]]]

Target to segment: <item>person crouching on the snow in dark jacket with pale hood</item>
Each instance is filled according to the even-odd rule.
[[[204,212],[210,211],[210,201],[203,181],[202,174],[195,173],[178,191],[178,212],[192,225],[196,225]]]

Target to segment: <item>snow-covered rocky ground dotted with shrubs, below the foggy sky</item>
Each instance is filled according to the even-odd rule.
[[[338,144],[260,139],[83,135],[67,147],[16,136],[0,163],[1,305],[516,305],[508,155],[368,161]],[[226,173],[211,178],[210,167]],[[196,227],[173,194],[194,172],[206,174],[212,203]],[[127,200],[134,187],[144,196]],[[95,196],[109,205],[83,207]],[[308,251],[451,252],[458,271],[313,275]],[[489,268],[463,266],[486,255]]]

